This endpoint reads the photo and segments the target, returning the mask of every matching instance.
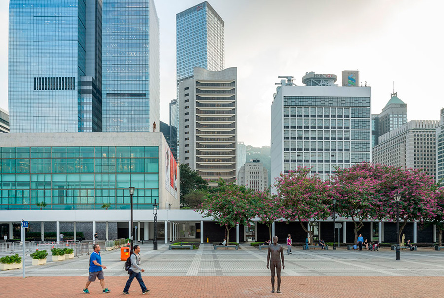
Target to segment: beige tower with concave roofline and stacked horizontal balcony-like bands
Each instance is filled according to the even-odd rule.
[[[236,67],[194,67],[194,77],[179,83],[181,161],[210,186],[236,182],[236,82]]]

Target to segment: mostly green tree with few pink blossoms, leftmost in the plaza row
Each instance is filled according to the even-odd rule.
[[[226,184],[223,179],[218,181],[217,187],[209,190],[196,211],[204,217],[212,217],[221,227],[225,226],[227,245],[231,228],[236,225],[250,226],[251,219],[255,217],[251,190],[232,183]]]

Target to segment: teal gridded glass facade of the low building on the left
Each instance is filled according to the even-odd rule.
[[[136,209],[159,202],[159,148],[0,148],[0,210]],[[162,182],[163,187],[163,182]]]

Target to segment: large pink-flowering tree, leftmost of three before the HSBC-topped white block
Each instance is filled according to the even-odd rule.
[[[328,183],[309,173],[310,169],[306,167],[298,167],[288,174],[281,173],[274,188],[282,204],[282,216],[289,221],[299,221],[313,243],[313,229],[308,230],[305,223],[329,217],[332,194]]]

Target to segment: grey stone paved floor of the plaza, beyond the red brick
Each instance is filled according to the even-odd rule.
[[[4,254],[1,254],[4,255]],[[203,244],[198,250],[168,250],[161,244],[154,251],[152,243],[141,245],[144,275],[152,276],[267,276],[267,250],[241,244],[239,250],[214,250]],[[383,248],[379,252],[305,251],[294,247],[291,255],[284,254],[283,276],[444,276],[444,252],[431,248],[401,251],[401,261],[395,252]],[[88,276],[89,256],[72,260],[32,266],[25,257],[26,276]],[[105,276],[126,276],[120,251],[102,253]],[[22,276],[22,270],[0,271],[1,276]]]

